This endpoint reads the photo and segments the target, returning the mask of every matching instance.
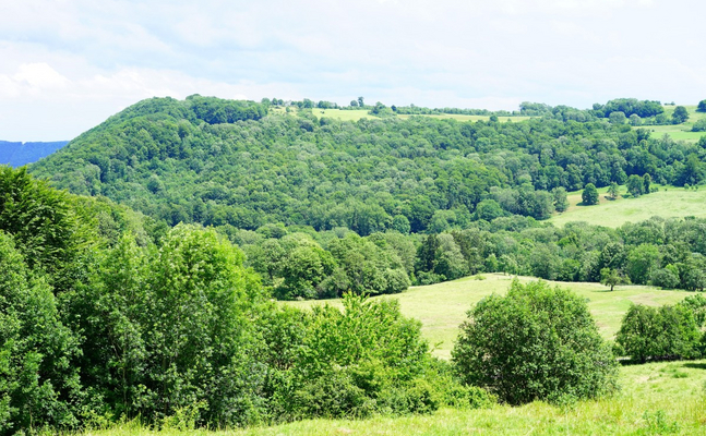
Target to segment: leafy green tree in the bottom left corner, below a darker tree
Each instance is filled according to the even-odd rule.
[[[0,231],[0,434],[79,425],[76,336],[62,323],[52,289]]]

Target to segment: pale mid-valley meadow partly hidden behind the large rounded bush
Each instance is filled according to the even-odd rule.
[[[448,359],[458,326],[466,319],[471,304],[493,292],[504,293],[510,288],[512,277],[502,274],[483,274],[424,287],[412,287],[407,291],[390,296],[399,300],[403,314],[421,320],[422,335],[433,347],[433,354]],[[520,281],[534,280],[520,277]],[[645,286],[619,286],[613,292],[598,283],[555,282],[588,299],[588,307],[605,338],[612,338],[631,303],[661,305],[675,303],[690,293],[686,291],[665,291]],[[338,300],[328,304],[338,305]],[[289,302],[298,307],[324,304],[321,301]]]

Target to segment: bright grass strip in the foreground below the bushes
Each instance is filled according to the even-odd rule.
[[[704,435],[705,382],[706,361],[650,363],[622,367],[622,389],[614,397],[566,408],[534,402],[518,408],[442,409],[432,415],[307,420],[225,432],[149,432],[128,423],[84,435]]]

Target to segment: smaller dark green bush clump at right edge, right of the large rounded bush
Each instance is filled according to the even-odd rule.
[[[615,337],[625,355],[651,360],[694,359],[701,355],[701,331],[684,305],[650,307],[633,304]]]

